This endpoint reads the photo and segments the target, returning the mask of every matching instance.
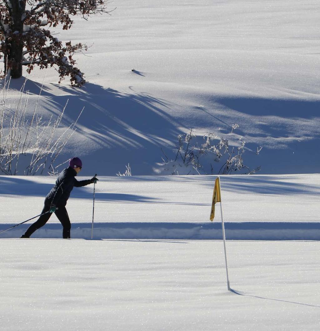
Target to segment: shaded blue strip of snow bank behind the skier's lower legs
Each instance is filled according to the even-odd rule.
[[[14,224],[0,224],[0,231]],[[229,240],[320,240],[320,222],[241,222],[225,223]],[[19,238],[27,225],[3,232],[1,238]],[[73,223],[71,237],[91,239],[92,224]],[[62,238],[60,224],[49,223],[32,238]],[[222,239],[221,223],[146,223],[99,222],[94,224],[93,239]]]

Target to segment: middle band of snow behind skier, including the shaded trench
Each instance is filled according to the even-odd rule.
[[[220,239],[219,204],[214,222],[209,221],[215,178],[99,177],[95,238]],[[227,238],[320,239],[320,175],[225,175],[220,181]],[[54,182],[50,176],[0,176],[0,204],[6,206],[0,230],[40,214]],[[75,187],[67,203],[71,238],[91,238],[92,207],[93,185]],[[31,222],[0,238],[20,237]],[[57,217],[52,215],[33,237],[61,238]]]

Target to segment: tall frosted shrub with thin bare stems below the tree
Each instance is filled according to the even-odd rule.
[[[31,118],[26,116],[29,93],[24,92],[25,82],[16,96],[15,102],[7,107],[7,93],[9,83],[5,83],[1,90],[3,98],[0,105],[0,170],[6,175],[35,175],[48,173],[56,174],[55,161],[63,151],[66,143],[75,131],[77,120],[70,124],[58,137],[57,131],[61,128],[62,112],[57,118],[52,115],[48,121],[43,120],[37,113],[38,100]],[[8,85],[8,86],[6,86]],[[51,171],[49,171],[49,169]]]

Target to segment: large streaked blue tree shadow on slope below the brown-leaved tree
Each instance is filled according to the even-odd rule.
[[[10,88],[20,90],[23,82],[22,78],[15,80]],[[41,85],[27,80],[24,90],[39,95]],[[152,166],[161,162],[160,147],[176,141],[181,133],[181,123],[165,111],[172,106],[170,103],[130,86],[117,91],[93,83],[82,88],[46,84],[38,109],[57,115],[67,101],[62,118],[65,126],[74,122],[85,107],[76,125],[78,143],[71,146],[75,155],[87,157],[83,175],[89,175],[88,169],[93,166],[98,174],[124,172],[128,163],[136,175],[145,174],[146,169],[150,173]],[[122,163],[123,169],[119,169]]]

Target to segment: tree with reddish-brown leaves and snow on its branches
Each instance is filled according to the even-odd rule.
[[[108,0],[0,0],[0,58],[4,75],[22,76],[22,66],[28,72],[35,65],[41,69],[54,67],[59,82],[69,76],[72,85],[85,83],[83,73],[76,68],[73,56],[87,45],[71,41],[65,45],[48,28],[61,24],[64,30],[73,24],[72,16],[87,20],[91,15],[110,13]]]

